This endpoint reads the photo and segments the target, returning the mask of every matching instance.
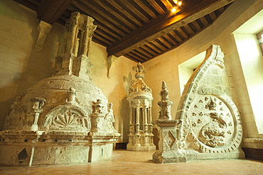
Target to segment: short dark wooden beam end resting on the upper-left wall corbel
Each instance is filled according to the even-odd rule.
[[[41,0],[36,13],[37,18],[53,24],[60,18],[65,9],[70,6],[73,0]]]

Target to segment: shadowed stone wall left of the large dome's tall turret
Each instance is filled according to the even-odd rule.
[[[33,47],[38,37],[36,13],[15,1],[0,1],[0,130],[19,93],[53,73],[63,42],[63,27],[55,24],[42,52]]]

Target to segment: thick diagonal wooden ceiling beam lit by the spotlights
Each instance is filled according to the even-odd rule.
[[[151,0],[148,1],[153,3]],[[195,2],[193,2],[191,6],[188,4],[188,9],[182,8],[176,15],[164,13],[162,16],[159,16],[138,30],[124,36],[122,40],[109,45],[109,47],[107,47],[108,55],[115,55],[117,57],[125,55],[129,50],[135,50],[149,43],[149,41],[161,37],[163,33],[169,33],[185,26],[187,23],[195,21],[208,13],[212,13],[233,1],[235,0],[203,0],[199,1],[198,4],[194,4]]]

